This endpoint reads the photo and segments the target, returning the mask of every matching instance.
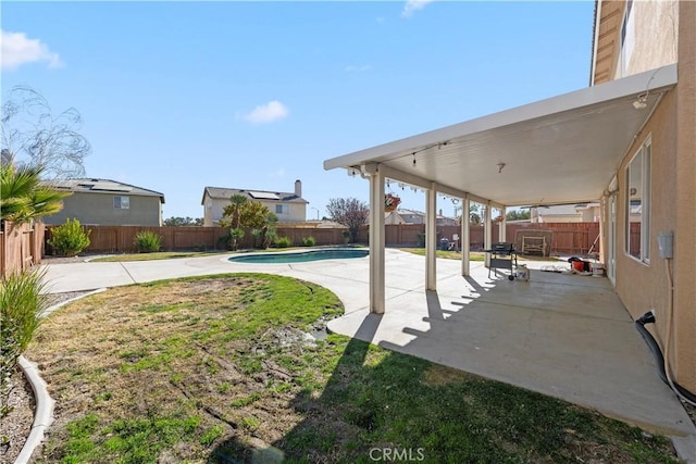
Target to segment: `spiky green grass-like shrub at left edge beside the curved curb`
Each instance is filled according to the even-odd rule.
[[[0,418],[10,412],[10,376],[32,341],[41,312],[48,305],[45,271],[14,273],[0,284]]]

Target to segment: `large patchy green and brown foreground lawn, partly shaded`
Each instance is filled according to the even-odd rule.
[[[263,274],[71,303],[26,353],[58,403],[37,462],[676,462],[664,437],[593,411],[347,337],[306,338],[341,313],[328,290]]]

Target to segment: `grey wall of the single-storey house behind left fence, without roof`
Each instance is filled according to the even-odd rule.
[[[113,208],[114,197],[128,197],[127,210]],[[45,224],[64,224],[66,218],[77,218],[80,224],[102,226],[160,226],[162,205],[160,197],[142,197],[127,193],[74,192],[63,200],[63,209],[44,216]]]

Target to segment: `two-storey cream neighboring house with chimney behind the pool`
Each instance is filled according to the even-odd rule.
[[[295,191],[268,191],[237,189],[224,187],[206,187],[203,189],[203,226],[216,226],[222,218],[224,208],[229,204],[234,195],[244,195],[249,200],[260,201],[270,212],[275,213],[279,223],[307,221],[309,201],[302,198],[302,183],[295,180]]]

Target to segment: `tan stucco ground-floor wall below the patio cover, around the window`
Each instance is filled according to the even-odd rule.
[[[682,83],[680,81],[680,86]],[[696,390],[696,143],[693,127],[680,130],[678,114],[684,92],[673,90],[663,99],[647,124],[643,134],[631,147],[619,170],[619,196],[617,217],[617,279],[619,297],[633,316],[638,318],[647,311],[656,314],[655,327],[648,326],[662,348],[668,340],[668,321],[672,318],[670,360],[676,380]],[[692,91],[692,101],[694,101]],[[693,113],[696,105],[692,106]],[[681,121],[681,118],[680,118]],[[626,174],[625,168],[636,150],[651,139],[650,164],[650,260],[645,264],[626,252]],[[692,148],[688,147],[689,138]],[[683,143],[682,141],[686,141]],[[657,237],[660,233],[674,233],[674,258],[659,256]],[[669,271],[668,271],[669,269]],[[674,293],[670,309],[670,277],[673,278]],[[669,312],[672,312],[669,314]]]

